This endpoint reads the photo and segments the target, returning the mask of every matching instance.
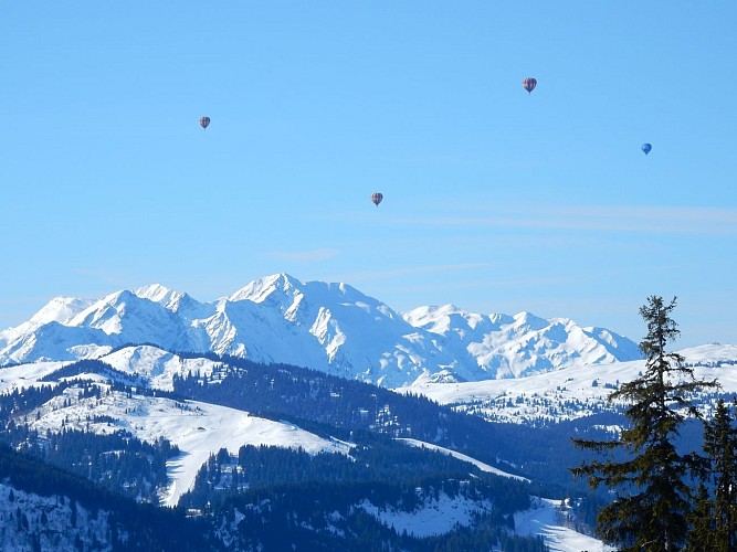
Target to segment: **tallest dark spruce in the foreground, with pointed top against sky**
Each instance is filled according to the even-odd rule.
[[[675,304],[675,298],[666,305],[651,296],[640,308],[647,325],[640,343],[644,373],[609,395],[625,403],[630,426],[614,440],[573,439],[578,447],[606,455],[571,471],[593,488],[604,485],[615,492],[614,501],[599,512],[597,531],[623,552],[674,552],[686,542],[694,498],[686,478],[698,473],[702,461],[678,454],[674,442],[687,415],[701,417],[688,394],[716,383],[697,381],[682,355],[666,352],[680,333],[671,318]],[[624,452],[624,459],[614,458],[617,450]]]

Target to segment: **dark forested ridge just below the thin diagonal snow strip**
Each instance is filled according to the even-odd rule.
[[[204,508],[240,493],[274,485],[365,485],[393,489],[387,500],[427,488],[427,481],[473,480],[482,499],[504,513],[529,508],[528,482],[484,473],[446,454],[414,448],[381,436],[364,434],[355,439],[350,455],[309,455],[269,446],[243,446],[238,456],[222,449],[201,468],[194,488],[181,503]],[[389,491],[388,491],[389,492]],[[379,500],[385,498],[378,497]],[[404,499],[407,502],[407,499]]]

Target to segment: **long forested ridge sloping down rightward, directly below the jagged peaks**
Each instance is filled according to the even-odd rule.
[[[323,432],[344,429],[344,436],[367,431],[433,443],[544,481],[547,488],[541,492],[547,496],[565,495],[570,488],[586,492],[585,485],[573,481],[568,471],[581,460],[581,453],[570,446],[570,437],[604,435],[593,426],[621,420],[615,414],[601,414],[594,422],[578,420],[544,428],[488,423],[423,396],[401,395],[305,368],[211,358],[221,361],[220,370],[209,376],[193,373],[175,378],[177,395],[286,418],[317,433],[322,426]]]

